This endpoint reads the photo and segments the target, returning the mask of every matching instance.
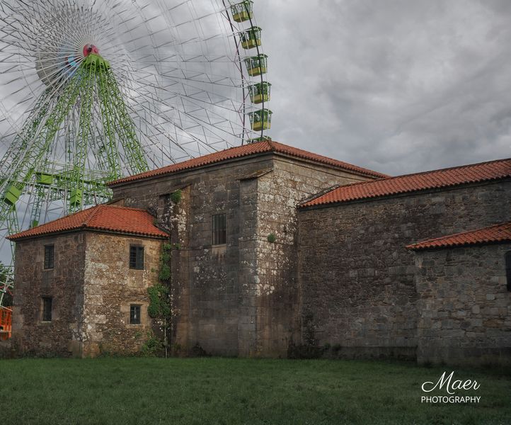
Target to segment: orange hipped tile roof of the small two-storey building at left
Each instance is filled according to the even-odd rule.
[[[104,230],[149,237],[168,236],[154,225],[154,217],[147,211],[115,205],[97,205],[24,232],[13,234],[8,239],[16,241],[43,234],[68,232],[74,229]]]

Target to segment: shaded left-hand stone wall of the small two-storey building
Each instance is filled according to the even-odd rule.
[[[44,269],[45,245],[54,245],[54,268]],[[20,354],[78,354],[84,234],[69,233],[16,242],[13,346]],[[42,297],[52,297],[52,321],[42,321]]]

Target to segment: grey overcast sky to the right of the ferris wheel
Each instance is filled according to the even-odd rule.
[[[254,7],[273,140],[393,175],[511,157],[511,1]]]

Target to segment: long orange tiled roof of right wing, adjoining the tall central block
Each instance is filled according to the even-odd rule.
[[[406,176],[389,177],[376,181],[340,186],[322,196],[300,205],[302,208],[350,200],[377,198],[432,188],[446,188],[464,183],[498,180],[511,177],[511,159],[498,159],[480,164],[457,166],[449,169],[425,171]]]

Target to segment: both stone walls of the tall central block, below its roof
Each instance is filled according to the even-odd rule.
[[[265,154],[114,187],[114,199],[158,214],[171,230],[173,344],[224,356],[282,356],[296,334],[299,200],[360,176]],[[169,195],[183,189],[179,205]],[[227,242],[212,246],[212,215]],[[277,242],[270,244],[268,234]],[[278,271],[277,271],[278,270]]]

